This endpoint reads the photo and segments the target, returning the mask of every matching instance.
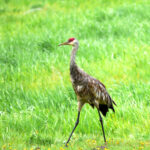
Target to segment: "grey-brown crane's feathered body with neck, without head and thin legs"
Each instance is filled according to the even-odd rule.
[[[81,70],[75,63],[75,55],[78,50],[78,41],[76,40],[71,52],[70,76],[73,89],[78,99],[78,109],[81,110],[85,103],[90,104],[93,108],[99,109],[104,116],[111,108],[114,111],[113,104],[105,86],[97,79],[91,77]]]

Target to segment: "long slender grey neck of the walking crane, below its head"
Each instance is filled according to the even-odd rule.
[[[78,68],[75,62],[75,57],[76,57],[76,52],[78,50],[78,47],[79,47],[78,43],[75,44],[71,52],[71,59],[70,59],[70,73],[71,74]]]

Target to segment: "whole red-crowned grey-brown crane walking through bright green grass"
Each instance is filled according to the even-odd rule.
[[[69,38],[67,42],[61,43],[58,46],[70,45],[72,46],[71,58],[70,58],[70,77],[73,89],[75,91],[78,102],[78,116],[75,122],[75,126],[65,144],[68,145],[76,127],[79,124],[80,112],[84,104],[89,104],[92,108],[96,108],[99,114],[99,121],[101,123],[104,142],[106,143],[106,137],[103,125],[103,116],[106,116],[109,109],[115,112],[115,101],[110,97],[106,90],[105,85],[96,78],[88,75],[76,64],[76,52],[79,48],[79,42],[76,38]]]

